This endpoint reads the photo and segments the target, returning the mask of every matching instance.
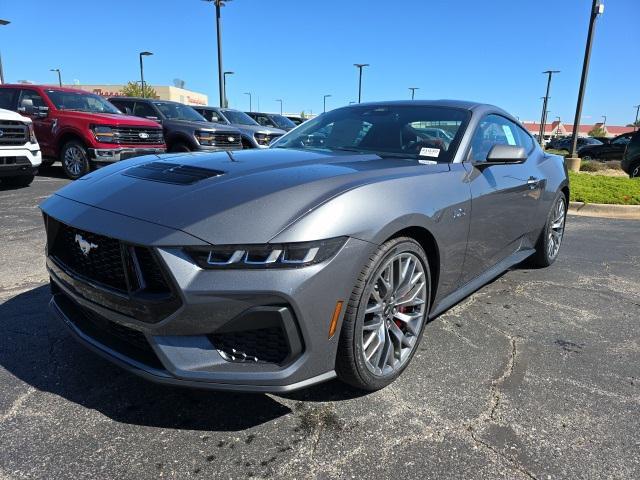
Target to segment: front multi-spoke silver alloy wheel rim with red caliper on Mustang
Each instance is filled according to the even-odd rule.
[[[378,270],[364,312],[361,346],[374,375],[402,368],[416,347],[427,308],[427,278],[413,253],[391,257]]]

